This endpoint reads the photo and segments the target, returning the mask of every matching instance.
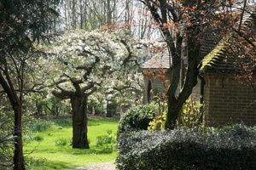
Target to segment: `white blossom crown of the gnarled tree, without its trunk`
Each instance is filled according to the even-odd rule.
[[[145,54],[141,56],[144,51],[138,49],[138,43],[136,38],[126,36],[125,31],[67,31],[51,47],[45,47],[45,51],[55,54],[44,59],[47,74],[51,71],[49,78],[54,77],[47,83],[60,91],[76,90],[74,82],[81,87],[88,84],[102,87],[102,91],[130,84],[131,78],[124,76],[125,73],[131,72],[130,66],[138,65],[145,58]],[[136,73],[134,71],[132,73]]]

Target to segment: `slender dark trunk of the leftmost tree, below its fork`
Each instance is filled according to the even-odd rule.
[[[21,116],[22,107],[21,105],[15,105],[15,156],[14,156],[14,170],[25,170],[24,157],[23,157],[23,145],[22,145],[22,132],[21,132]]]

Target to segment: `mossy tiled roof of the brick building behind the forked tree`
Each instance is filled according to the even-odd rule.
[[[242,23],[250,22],[253,14],[244,14]],[[235,57],[227,57],[224,54],[224,46],[228,45],[228,35],[226,37],[218,37],[212,31],[207,32],[207,37],[202,41],[200,48],[201,70],[214,71],[238,71],[239,62]],[[170,68],[171,58],[168,51],[157,54],[152,59],[146,61],[142,66],[142,70],[158,70]]]

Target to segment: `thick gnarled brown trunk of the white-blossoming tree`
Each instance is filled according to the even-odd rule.
[[[87,99],[86,95],[73,94],[71,105],[73,110],[73,148],[89,149],[87,139]]]

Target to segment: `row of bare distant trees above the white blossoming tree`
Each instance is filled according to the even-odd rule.
[[[152,32],[150,16],[134,0],[70,0],[61,6],[61,29],[92,31],[102,26],[119,25],[134,37],[147,38]]]

